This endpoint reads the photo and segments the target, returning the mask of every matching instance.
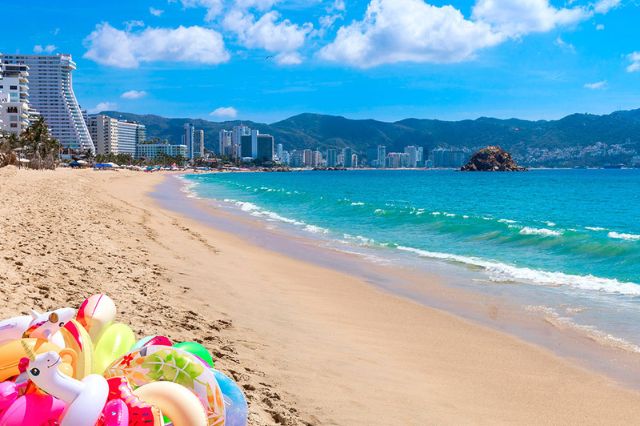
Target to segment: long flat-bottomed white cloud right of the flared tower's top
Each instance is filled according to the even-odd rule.
[[[199,26],[132,32],[104,23],[96,26],[85,43],[85,58],[118,68],[155,61],[219,64],[229,60],[220,33]]]

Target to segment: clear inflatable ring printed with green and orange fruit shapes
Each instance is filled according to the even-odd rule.
[[[125,377],[134,389],[159,381],[182,385],[206,408],[208,425],[224,425],[224,398],[215,375],[198,357],[185,350],[145,346],[117,359],[104,376]]]

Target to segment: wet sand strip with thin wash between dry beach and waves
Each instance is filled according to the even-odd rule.
[[[268,246],[270,251],[286,257],[338,270],[394,296],[515,336],[625,387],[640,390],[639,348],[563,317],[545,306],[544,298],[532,298],[545,287],[526,282],[494,283],[486,273],[464,263],[391,257],[392,253],[367,251],[357,244],[341,247],[344,242],[336,245],[335,240],[324,237],[326,230],[322,232],[315,225],[291,224],[293,219],[273,216],[272,212],[265,216],[251,203],[202,197],[197,189],[200,183],[185,177],[181,174],[165,179],[152,196],[166,209],[225,229],[250,244]],[[311,231],[306,230],[308,226]],[[507,289],[509,292],[505,292]],[[567,311],[570,309],[566,307]]]

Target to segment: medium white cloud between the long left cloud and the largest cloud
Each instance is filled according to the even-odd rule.
[[[238,41],[247,48],[291,55],[304,45],[313,26],[297,25],[288,19],[279,19],[280,14],[271,11],[256,21],[251,13],[236,9],[227,14],[223,25],[236,34]]]

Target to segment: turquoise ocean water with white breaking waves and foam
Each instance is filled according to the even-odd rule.
[[[198,197],[345,251],[477,271],[478,286],[509,284],[527,310],[640,352],[640,170],[185,179]]]

